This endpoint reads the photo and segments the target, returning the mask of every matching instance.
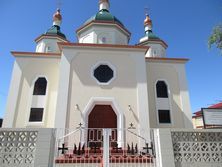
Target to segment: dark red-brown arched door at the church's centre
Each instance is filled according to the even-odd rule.
[[[88,116],[88,142],[101,146],[102,129],[112,130],[112,140],[117,141],[117,115],[111,105],[95,105]]]

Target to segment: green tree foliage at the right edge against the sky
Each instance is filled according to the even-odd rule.
[[[208,39],[209,48],[216,46],[222,52],[222,24],[214,27],[211,36]]]

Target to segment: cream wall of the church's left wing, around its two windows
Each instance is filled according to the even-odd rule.
[[[22,79],[19,85],[17,107],[14,110],[14,127],[54,127],[60,59],[20,57],[16,58],[16,62],[22,71]],[[48,81],[45,102],[43,99],[32,98],[34,82],[36,78],[43,76]],[[45,106],[42,123],[29,122],[31,107],[42,105]]]

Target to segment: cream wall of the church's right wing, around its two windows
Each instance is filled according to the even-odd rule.
[[[166,63],[166,62],[147,62],[147,85],[149,96],[149,114],[151,128],[190,128],[192,127],[192,119],[189,119],[191,110],[189,106],[185,107],[183,104],[189,104],[187,96],[188,89],[181,86],[182,81],[186,85],[185,73],[179,73],[177,68],[184,68],[184,64],[180,63]],[[180,75],[180,76],[179,76]],[[183,79],[182,79],[183,78]],[[156,104],[156,82],[164,80],[168,84],[170,91],[169,103],[171,124],[160,124],[158,121],[158,101]],[[162,104],[161,104],[162,105]],[[160,106],[161,106],[160,105]],[[164,103],[163,103],[164,105]],[[162,107],[167,107],[167,104]],[[190,114],[189,114],[190,113]]]

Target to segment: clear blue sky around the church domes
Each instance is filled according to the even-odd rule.
[[[76,42],[75,30],[98,11],[98,0],[60,0],[62,32]],[[154,33],[168,45],[168,57],[189,58],[187,80],[192,111],[222,100],[222,55],[207,47],[212,27],[222,22],[221,0],[110,0],[111,13],[132,33],[144,35],[144,7]],[[0,0],[0,117],[4,116],[14,58],[10,51],[35,51],[34,39],[52,25],[58,0]]]

